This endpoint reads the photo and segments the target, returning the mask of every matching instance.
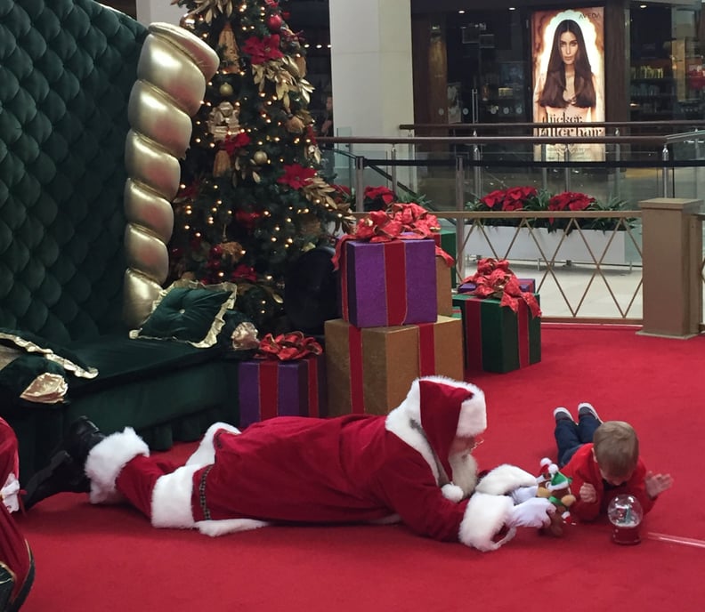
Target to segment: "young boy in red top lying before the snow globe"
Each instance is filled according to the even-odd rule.
[[[555,408],[555,442],[558,464],[572,479],[578,499],[571,514],[581,520],[605,515],[612,499],[634,495],[644,513],[652,509],[658,495],[673,484],[670,474],[646,471],[639,457],[639,439],[629,423],[602,422],[587,402],[578,406],[578,423],[563,407]]]

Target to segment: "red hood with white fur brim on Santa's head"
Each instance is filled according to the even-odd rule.
[[[426,376],[417,384],[421,428],[452,479],[448,455],[453,440],[477,436],[487,428],[484,394],[472,384],[442,376]]]

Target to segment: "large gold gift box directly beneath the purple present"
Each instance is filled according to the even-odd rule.
[[[434,370],[423,375],[463,380],[462,321],[441,316],[431,325],[434,354],[421,355],[419,326],[359,328],[342,318],[326,321],[328,415],[386,415],[422,375],[422,360],[433,363]]]

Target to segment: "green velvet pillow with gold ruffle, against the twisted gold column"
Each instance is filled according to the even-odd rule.
[[[198,349],[213,346],[236,294],[237,287],[231,283],[201,285],[177,280],[160,292],[150,316],[140,329],[130,332],[130,337],[189,342]]]

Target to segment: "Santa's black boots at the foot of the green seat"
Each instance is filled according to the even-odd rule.
[[[87,417],[81,416],[71,423],[49,465],[37,471],[24,487],[25,510],[57,493],[88,493],[91,482],[85,475],[85,460],[91,448],[102,439],[105,436]]]

